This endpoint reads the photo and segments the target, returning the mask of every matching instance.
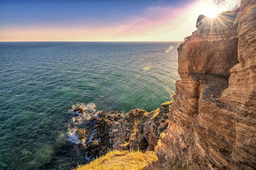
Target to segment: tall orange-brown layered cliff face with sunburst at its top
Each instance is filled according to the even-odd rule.
[[[206,169],[256,167],[256,1],[200,18],[179,46],[177,93],[162,160]],[[154,165],[152,165],[154,167]]]

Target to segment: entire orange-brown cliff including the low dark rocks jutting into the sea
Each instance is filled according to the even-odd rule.
[[[196,27],[178,48],[173,102],[92,117],[101,139],[95,155],[156,152],[144,169],[256,168],[256,1],[213,19],[200,15]]]

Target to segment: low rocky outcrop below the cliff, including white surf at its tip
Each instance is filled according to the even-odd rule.
[[[92,104],[78,103],[70,109],[69,140],[87,150],[88,161],[111,150],[153,151],[161,133],[166,132],[171,104],[163,103],[150,113],[136,109],[124,114],[104,113],[94,110]]]

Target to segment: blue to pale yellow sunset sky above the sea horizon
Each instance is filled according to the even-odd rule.
[[[182,41],[239,0],[0,0],[0,41]]]

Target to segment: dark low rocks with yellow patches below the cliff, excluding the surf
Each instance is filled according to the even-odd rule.
[[[128,113],[100,112],[91,121],[95,122],[99,139],[97,148],[91,150],[100,156],[109,150],[154,150],[162,132],[166,132],[168,116],[172,102],[163,103],[157,110],[148,113],[145,110],[131,110]]]

